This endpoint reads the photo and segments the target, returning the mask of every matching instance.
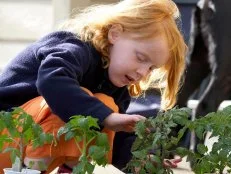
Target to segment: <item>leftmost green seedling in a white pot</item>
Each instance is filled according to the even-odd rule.
[[[37,170],[23,169],[25,147],[31,143],[36,148],[52,140],[53,136],[44,133],[21,108],[0,112],[0,150],[2,153],[10,153],[12,162],[12,168],[4,169],[5,173],[40,173]],[[33,162],[30,162],[30,167],[33,165]],[[41,167],[43,166],[41,164]]]

